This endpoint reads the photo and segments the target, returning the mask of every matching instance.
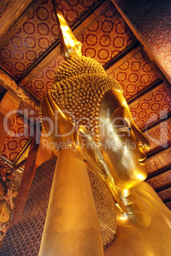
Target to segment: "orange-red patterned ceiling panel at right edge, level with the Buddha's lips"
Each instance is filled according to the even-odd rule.
[[[152,159],[146,160],[146,168],[148,173],[154,173],[158,169],[167,167],[171,164],[170,158],[171,148],[164,150],[160,155],[154,156]]]

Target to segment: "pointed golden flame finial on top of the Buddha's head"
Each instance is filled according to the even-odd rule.
[[[73,32],[71,31],[67,22],[57,6],[55,0],[52,1],[53,8],[56,10],[55,15],[57,17],[58,31],[60,38],[60,53],[67,59],[71,55],[80,56],[81,55],[81,43],[75,38]]]

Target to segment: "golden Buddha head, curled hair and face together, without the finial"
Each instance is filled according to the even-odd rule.
[[[149,142],[133,122],[120,84],[99,62],[89,57],[67,59],[58,68],[50,94],[77,132],[83,125],[92,135],[99,151],[95,158],[102,155],[116,187],[127,189],[146,179],[143,148]],[[88,146],[86,135],[83,151]]]

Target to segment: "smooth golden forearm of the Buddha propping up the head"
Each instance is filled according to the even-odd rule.
[[[58,154],[39,255],[103,255],[100,225],[83,156]]]

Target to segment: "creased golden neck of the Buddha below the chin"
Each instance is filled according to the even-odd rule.
[[[118,224],[128,227],[146,227],[151,222],[151,214],[146,202],[135,192],[133,188],[118,191],[121,200],[127,208],[127,213],[117,214]]]

